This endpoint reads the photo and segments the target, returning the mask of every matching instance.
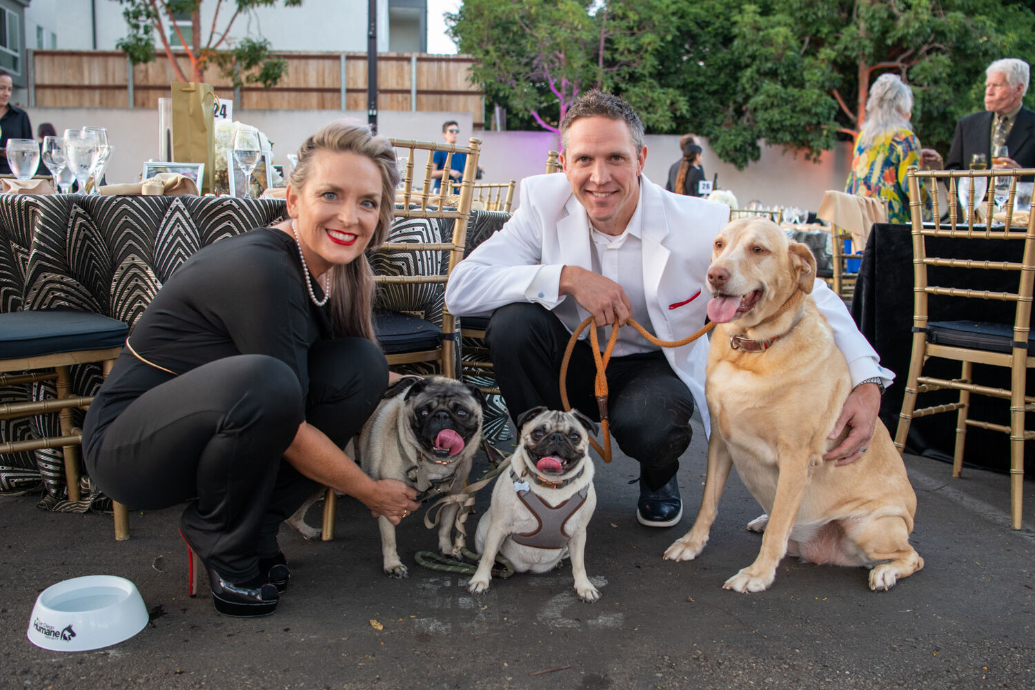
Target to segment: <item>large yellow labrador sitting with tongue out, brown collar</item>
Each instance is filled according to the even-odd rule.
[[[808,296],[816,259],[776,223],[742,218],[715,238],[714,299],[705,396],[711,415],[708,475],[690,531],[664,552],[696,558],[708,541],[731,466],[768,517],[755,563],[726,581],[737,592],[772,584],[786,553],[812,563],[866,566],[887,590],[923,567],[909,543],[916,494],[888,430],[878,421],[862,457],[835,467],[823,454],[852,383],[826,318]],[[798,292],[800,291],[800,293]]]

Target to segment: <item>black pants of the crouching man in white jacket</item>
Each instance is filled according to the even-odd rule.
[[[512,418],[540,404],[562,409],[558,380],[569,338],[560,320],[538,304],[508,304],[493,313],[485,339]],[[572,408],[598,420],[591,348],[575,343],[567,393]],[[679,470],[679,456],[690,445],[693,397],[660,351],[613,357],[607,378],[611,433],[640,462],[648,486],[658,488]]]

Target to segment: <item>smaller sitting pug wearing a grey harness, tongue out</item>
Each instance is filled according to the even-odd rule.
[[[496,554],[515,572],[548,572],[566,556],[579,598],[600,592],[586,575],[586,528],[596,508],[589,431],[596,423],[579,411],[533,408],[518,418],[521,440],[493,487],[492,505],[478,521],[481,557],[468,583],[471,594],[489,590]]]

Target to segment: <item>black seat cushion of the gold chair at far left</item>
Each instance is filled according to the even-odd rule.
[[[75,309],[0,313],[0,359],[21,359],[121,346],[129,327],[121,321]]]

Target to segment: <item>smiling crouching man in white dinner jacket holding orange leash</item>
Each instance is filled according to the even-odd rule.
[[[666,191],[643,175],[643,124],[622,98],[582,95],[561,122],[564,175],[522,182],[521,207],[500,232],[453,270],[446,304],[460,317],[492,314],[486,330],[496,380],[513,418],[539,404],[561,407],[558,378],[568,338],[592,314],[610,328],[634,319],[662,340],[705,324],[711,244],[729,207]],[[822,280],[812,292],[834,328],[855,386],[837,428],[851,433],[826,458],[857,459],[874,432],[880,395],[894,374]],[[568,366],[571,404],[598,418],[589,340]],[[676,472],[690,442],[694,403],[708,425],[708,341],[678,349],[619,331],[608,366],[609,419],[619,447],[641,466],[637,517],[671,527],[682,517]]]

